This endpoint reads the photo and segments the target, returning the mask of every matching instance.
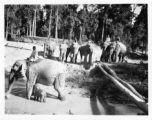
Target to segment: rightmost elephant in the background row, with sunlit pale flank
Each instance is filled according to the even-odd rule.
[[[123,62],[126,52],[127,48],[122,42],[113,42],[109,46],[108,61]]]

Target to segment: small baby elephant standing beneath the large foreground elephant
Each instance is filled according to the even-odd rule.
[[[38,101],[40,100],[40,102],[46,102],[46,100],[45,100],[46,92],[45,92],[45,90],[43,90],[41,88],[41,84],[36,83],[34,85],[33,93],[34,93],[35,100],[38,100]]]

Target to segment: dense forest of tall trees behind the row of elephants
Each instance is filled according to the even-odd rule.
[[[135,13],[141,7],[139,15]],[[88,39],[103,42],[116,36],[129,50],[148,50],[147,4],[5,5],[5,39],[9,35]]]

